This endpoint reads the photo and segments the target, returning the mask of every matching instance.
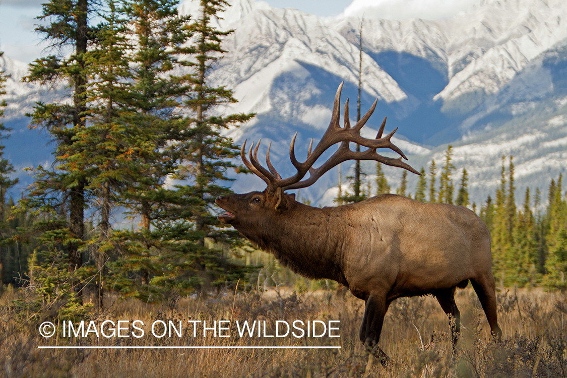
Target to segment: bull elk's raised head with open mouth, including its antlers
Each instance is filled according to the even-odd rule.
[[[285,190],[306,188],[314,184],[319,177],[329,169],[335,167],[336,165],[346,162],[347,160],[375,160],[386,165],[391,165],[392,167],[400,167],[407,169],[410,172],[420,175],[415,169],[410,165],[402,161],[402,158],[407,160],[404,153],[395,146],[391,139],[393,134],[396,132],[397,128],[392,130],[390,134],[382,137],[384,133],[384,126],[386,126],[386,117],[380,126],[378,135],[375,139],[364,138],[360,135],[360,130],[362,126],[366,124],[370,116],[376,108],[378,100],[374,101],[374,104],[369,109],[368,112],[359,120],[353,127],[350,126],[349,120],[349,100],[345,102],[344,110],[344,127],[341,127],[340,122],[340,101],[341,101],[341,83],[338,86],[337,93],[335,95],[335,104],[333,105],[333,112],[331,123],[329,127],[323,134],[323,137],[319,141],[318,145],[313,149],[313,139],[309,145],[307,152],[307,159],[301,163],[295,157],[295,138],[297,138],[297,132],[291,139],[291,144],[289,148],[289,156],[291,163],[297,169],[295,175],[283,179],[280,173],[276,171],[272,162],[270,162],[270,147],[272,143],[268,146],[266,152],[266,165],[268,169],[263,167],[258,162],[258,148],[260,147],[261,139],[258,141],[256,147],[255,143],[252,143],[248,151],[249,158],[246,157],[246,141],[242,145],[240,150],[240,156],[242,157],[243,163],[248,167],[256,176],[264,180],[266,183],[266,189],[263,192],[251,192],[247,194],[238,194],[226,197],[217,198],[217,204],[223,209],[227,210],[227,213],[219,215],[218,219],[222,223],[230,223],[238,230],[237,225],[243,221],[243,219],[249,219],[252,214],[257,214],[260,209],[264,211],[270,211],[279,213],[282,210],[289,209],[293,206],[295,202],[295,195],[285,194]],[[350,142],[357,143],[358,145],[365,146],[367,149],[365,151],[353,151],[350,149]],[[319,168],[313,168],[315,162],[320,158],[320,156],[328,150],[329,147],[341,143],[338,150],[329,158],[326,162],[320,165]],[[376,152],[378,148],[390,148],[390,150],[397,152],[400,155],[399,158],[388,158],[387,156],[382,156]],[[303,179],[307,173],[309,177]]]

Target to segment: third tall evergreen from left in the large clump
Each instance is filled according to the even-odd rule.
[[[179,203],[179,194],[164,188],[164,183],[180,168],[176,146],[184,135],[190,137],[174,111],[189,88],[187,79],[173,72],[182,65],[177,57],[188,53],[183,45],[191,34],[187,31],[189,16],[178,14],[176,1],[124,1],[123,5],[129,31],[125,37],[133,46],[126,53],[130,62],[128,90],[134,95],[125,113],[128,117],[121,118],[134,136],[131,142],[136,158],[131,161],[137,166],[128,169],[133,179],[117,199],[131,219],[139,220],[139,228],[115,232],[122,245],[121,258],[111,265],[117,290],[147,301],[160,289],[150,281],[165,274],[165,240],[171,231],[163,223],[155,227],[156,222],[167,213],[164,209],[190,207]]]

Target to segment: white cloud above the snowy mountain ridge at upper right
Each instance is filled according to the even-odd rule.
[[[450,18],[476,3],[479,3],[479,0],[354,0],[340,16],[437,20]]]

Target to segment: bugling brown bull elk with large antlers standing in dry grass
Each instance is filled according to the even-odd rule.
[[[346,160],[377,162],[419,173],[407,163],[391,138],[395,130],[382,137],[386,118],[376,139],[363,138],[360,130],[374,112],[370,110],[351,128],[348,100],[344,128],[339,125],[340,94],[335,96],[331,124],[321,141],[301,163],[295,158],[295,133],[290,145],[290,159],[297,173],[282,179],[270,162],[268,169],[258,162],[254,143],[246,157],[246,141],[240,155],[244,164],[266,182],[263,192],[218,197],[217,205],[226,210],[219,215],[257,247],[273,253],[282,265],[312,279],[333,279],[348,287],[366,302],[360,339],[367,349],[385,363],[387,356],[378,347],[384,315],[396,298],[431,294],[454,322],[451,322],[453,346],[460,330],[459,309],[455,304],[456,287],[471,281],[493,335],[502,334],[497,322],[496,294],[492,274],[490,233],[473,211],[445,203],[421,203],[413,199],[383,194],[365,201],[323,209],[295,201],[295,194],[285,190],[306,188],[329,169]],[[350,150],[354,142],[365,151]],[[338,150],[319,168],[312,165],[329,147],[341,143]],[[270,145],[271,146],[271,145]],[[390,148],[400,155],[393,159],[376,153]],[[253,151],[253,152],[252,152]],[[303,177],[310,173],[307,179]]]

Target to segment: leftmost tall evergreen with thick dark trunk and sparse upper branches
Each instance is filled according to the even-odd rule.
[[[64,82],[69,88],[71,103],[65,101],[52,104],[38,103],[32,114],[33,128],[43,128],[55,142],[55,169],[50,170],[41,165],[36,168],[35,182],[28,196],[19,201],[24,211],[29,209],[31,215],[50,214],[46,220],[39,220],[40,238],[50,238],[50,232],[56,232],[61,243],[47,241],[52,250],[46,256],[67,258],[67,269],[74,272],[83,265],[81,247],[84,239],[84,209],[86,206],[87,184],[84,173],[79,169],[66,171],[63,165],[69,152],[72,151],[76,133],[85,126],[86,107],[86,73],[84,54],[87,51],[91,28],[87,20],[92,17],[92,4],[88,0],[51,0],[43,4],[38,17],[46,22],[38,26],[36,31],[48,41],[50,49],[56,54],[40,58],[29,67],[29,75],[25,79],[44,85]],[[67,54],[71,50],[71,54]],[[74,152],[73,152],[74,153]],[[58,165],[62,164],[62,165]],[[72,164],[66,164],[72,168]],[[40,242],[41,244],[41,242]],[[53,266],[64,266],[53,262]],[[37,268],[39,269],[39,268]],[[72,287],[81,301],[82,285],[75,280]],[[64,291],[62,291],[64,292]]]

